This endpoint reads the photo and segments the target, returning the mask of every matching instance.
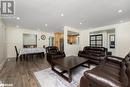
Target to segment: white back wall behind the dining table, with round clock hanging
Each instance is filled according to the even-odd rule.
[[[6,29],[7,37],[7,58],[13,58],[16,56],[14,46],[17,46],[18,49],[23,48],[23,34],[36,34],[37,35],[37,47],[43,47],[43,45],[49,45],[49,36],[53,34],[34,31],[29,29],[20,29],[9,27]],[[42,40],[41,35],[45,35],[46,39]]]

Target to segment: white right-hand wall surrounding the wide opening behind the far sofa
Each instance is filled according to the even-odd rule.
[[[100,30],[115,29],[115,56],[125,57],[130,51],[130,22],[114,24],[94,29],[86,29],[80,33],[80,49],[89,46],[89,33]]]

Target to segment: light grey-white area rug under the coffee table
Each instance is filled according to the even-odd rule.
[[[54,71],[52,71],[51,68],[34,72],[34,75],[36,76],[41,87],[77,87],[79,85],[80,78],[83,76],[83,73],[86,70],[91,70],[94,67],[95,66],[92,65],[91,68],[78,67],[73,70],[71,83],[64,80]]]

